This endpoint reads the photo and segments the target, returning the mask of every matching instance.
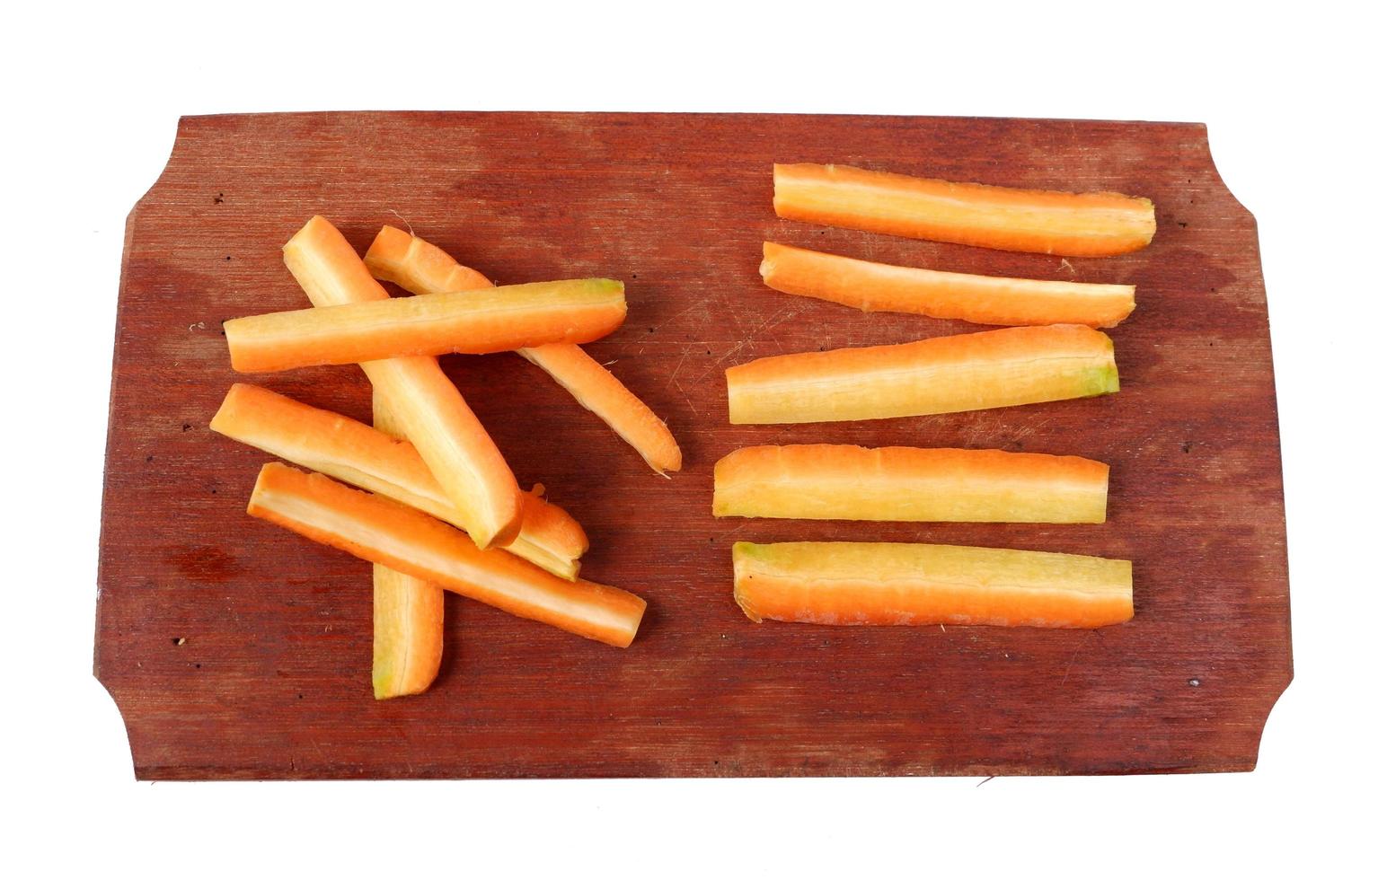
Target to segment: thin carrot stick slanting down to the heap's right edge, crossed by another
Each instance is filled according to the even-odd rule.
[[[381,227],[366,251],[366,267],[412,294],[441,294],[491,287],[480,272],[458,263],[441,248],[393,226]],[[517,353],[548,373],[587,410],[635,448],[656,473],[677,471],[680,446],[651,407],[577,345],[553,342]]]

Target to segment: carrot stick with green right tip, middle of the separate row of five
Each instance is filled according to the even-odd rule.
[[[1117,389],[1112,340],[1074,324],[778,355],[727,370],[732,424],[957,413]]]

